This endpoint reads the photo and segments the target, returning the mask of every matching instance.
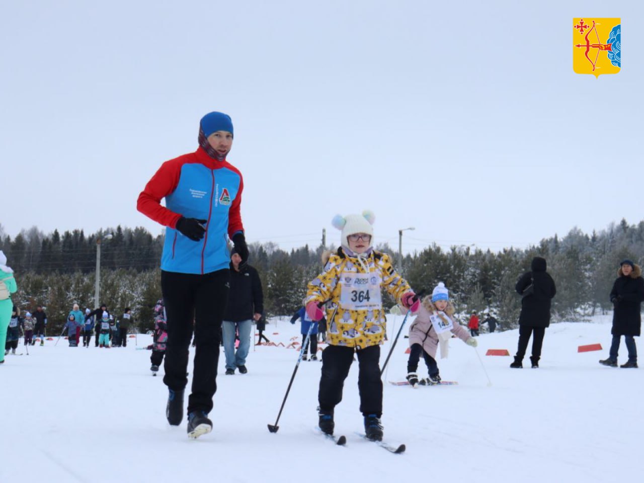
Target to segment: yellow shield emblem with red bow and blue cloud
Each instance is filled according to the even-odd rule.
[[[621,69],[621,19],[573,19],[573,70],[578,74],[616,74]]]

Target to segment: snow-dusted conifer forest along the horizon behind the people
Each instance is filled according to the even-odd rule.
[[[113,234],[102,243],[100,298],[117,312],[131,307],[138,330],[153,327],[152,308],[160,297],[158,271],[163,236],[146,229],[108,227],[85,234],[82,230],[55,230],[44,234],[37,227],[23,229],[17,236],[0,225],[3,250],[19,279],[14,297],[21,308],[40,304],[47,308],[50,331],[57,333],[73,303],[95,307],[94,283],[97,239]],[[292,314],[300,307],[307,282],[321,270],[321,255],[330,247],[283,251],[276,243],[251,243],[249,263],[260,273],[267,316]],[[397,251],[377,245],[397,263]],[[520,298],[516,279],[529,270],[533,256],[543,256],[557,285],[553,299],[553,321],[583,321],[611,309],[609,292],[620,260],[639,263],[644,258],[644,221],[621,220],[599,232],[586,234],[573,228],[565,236],[544,238],[527,249],[506,248],[500,252],[476,247],[443,249],[430,245],[406,254],[403,274],[413,289],[430,289],[444,281],[453,296],[460,322],[472,310],[491,312],[501,330],[516,328]],[[391,300],[386,305],[392,305]]]

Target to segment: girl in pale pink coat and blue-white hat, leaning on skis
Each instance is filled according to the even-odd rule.
[[[417,317],[409,328],[410,354],[407,361],[407,381],[413,388],[417,388],[419,384],[416,370],[421,354],[430,373],[430,377],[422,380],[421,384],[439,384],[439,366],[435,359],[439,345],[441,359],[448,355],[448,343],[452,334],[472,347],[477,346],[477,340],[452,318],[454,307],[444,283],[440,282],[434,288],[431,297],[422,299],[416,314]]]

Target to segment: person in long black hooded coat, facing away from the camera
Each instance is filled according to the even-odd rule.
[[[532,259],[531,271],[524,273],[516,282],[516,292],[523,297],[519,315],[519,343],[513,368],[523,367],[527,343],[532,339],[532,367],[539,366],[545,328],[550,325],[550,303],[557,293],[553,278],[545,271],[545,258]]]

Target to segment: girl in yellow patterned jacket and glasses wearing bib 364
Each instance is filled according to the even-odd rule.
[[[418,301],[389,256],[374,250],[373,223],[374,214],[370,211],[336,215],[332,224],[342,231],[341,247],[330,256],[323,272],[308,283],[304,303],[313,321],[325,315],[320,305],[326,303],[327,310],[328,346],[322,352],[319,428],[327,434],[334,431],[334,408],[342,399],[343,384],[355,354],[366,437],[382,440],[383,382],[379,359],[386,329],[381,290],[406,308],[418,305]]]

